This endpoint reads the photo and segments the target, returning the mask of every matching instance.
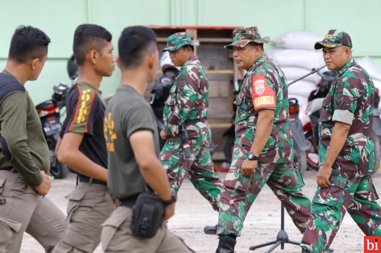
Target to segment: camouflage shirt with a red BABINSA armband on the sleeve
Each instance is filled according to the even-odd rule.
[[[288,91],[283,71],[263,55],[249,68],[236,100],[236,144],[233,166],[241,166],[253,144],[258,111],[275,110],[270,137],[259,160],[289,162],[292,160],[293,140],[288,124]]]

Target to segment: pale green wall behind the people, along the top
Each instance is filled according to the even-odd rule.
[[[109,29],[114,45],[123,27],[134,24],[257,25],[263,36],[271,38],[294,29],[325,33],[339,28],[351,35],[355,56],[368,55],[381,67],[379,0],[0,0],[0,4],[0,68],[5,66],[18,25],[37,26],[52,39],[40,78],[27,83],[36,103],[50,97],[53,85],[70,83],[66,60],[71,55],[74,30],[84,22]],[[115,70],[113,76],[104,78],[103,94],[114,91],[119,77],[119,70]]]

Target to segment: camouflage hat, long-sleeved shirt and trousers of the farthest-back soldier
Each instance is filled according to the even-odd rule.
[[[168,47],[163,50],[176,50],[185,44],[197,46],[199,41],[192,41],[185,32],[177,32],[168,37]],[[177,192],[186,174],[213,208],[218,210],[222,182],[209,152],[212,134],[206,120],[208,89],[205,70],[194,55],[181,66],[165,101],[163,129],[169,135],[161,150],[161,161],[172,190]],[[184,156],[179,136],[182,124],[185,124],[189,136],[189,159]]]

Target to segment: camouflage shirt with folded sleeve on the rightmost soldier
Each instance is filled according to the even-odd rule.
[[[319,124],[319,162],[324,163],[335,121],[350,124],[343,148],[332,165],[332,174],[346,178],[362,177],[373,168],[374,88],[369,74],[349,60],[333,80],[322,102]]]

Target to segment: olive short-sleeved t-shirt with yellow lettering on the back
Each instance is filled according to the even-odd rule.
[[[123,199],[145,190],[145,181],[136,163],[129,137],[139,130],[153,133],[156,156],[159,139],[151,106],[132,86],[120,85],[108,104],[104,133],[108,154],[107,186],[113,197]]]

